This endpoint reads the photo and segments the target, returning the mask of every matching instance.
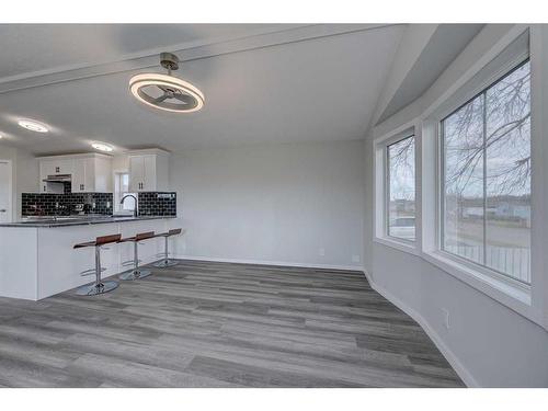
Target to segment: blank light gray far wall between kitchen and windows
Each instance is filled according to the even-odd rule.
[[[180,255],[362,269],[363,141],[192,150],[170,173]]]

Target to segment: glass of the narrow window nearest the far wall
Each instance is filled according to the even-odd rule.
[[[387,233],[415,239],[414,136],[387,146]]]

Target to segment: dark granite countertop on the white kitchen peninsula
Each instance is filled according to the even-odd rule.
[[[126,222],[126,221],[141,221],[141,220],[157,220],[176,218],[172,216],[70,216],[70,217],[52,217],[52,218],[28,218],[22,219],[18,222],[0,224],[0,227],[70,227],[70,226],[89,226],[93,224],[111,224],[111,222]]]

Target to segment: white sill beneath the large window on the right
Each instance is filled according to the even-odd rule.
[[[494,273],[488,274],[489,270],[472,269],[443,251],[423,252],[422,258],[521,316],[545,327],[543,316],[532,307],[530,287],[498,278]]]

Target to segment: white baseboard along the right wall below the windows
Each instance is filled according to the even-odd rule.
[[[450,364],[453,369],[455,369],[455,373],[460,377],[460,379],[466,384],[467,387],[476,388],[480,387],[476,378],[470,374],[468,369],[463,365],[460,359],[453,353],[453,351],[449,350],[449,347],[445,344],[443,339],[439,336],[437,332],[434,331],[434,329],[430,326],[430,323],[422,317],[418,311],[415,311],[413,308],[409,307],[406,302],[403,302],[401,299],[396,297],[393,294],[388,292],[386,288],[383,286],[376,284],[373,281],[373,277],[370,274],[363,269],[363,272],[365,274],[365,277],[369,282],[369,285],[372,286],[373,289],[375,289],[378,294],[380,294],[383,297],[385,297],[387,300],[392,302],[396,307],[398,307],[400,310],[406,312],[409,317],[411,317],[413,320],[415,320],[419,326],[422,327],[426,335],[430,336],[432,342],[435,344],[437,350],[442,353],[442,355],[447,359],[447,362]]]

